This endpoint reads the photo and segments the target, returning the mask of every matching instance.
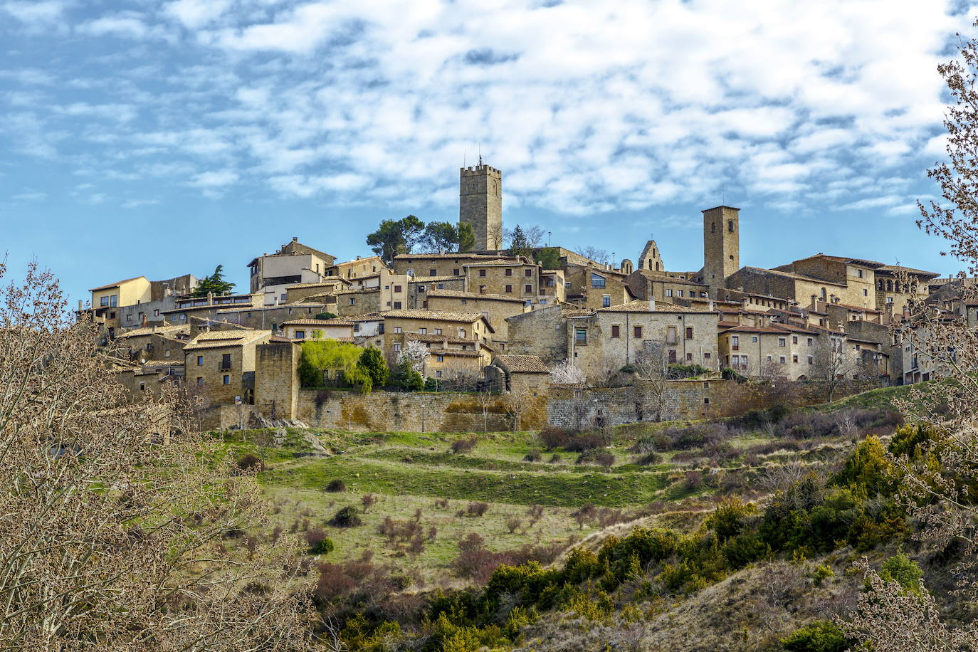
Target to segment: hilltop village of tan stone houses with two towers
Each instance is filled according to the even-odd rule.
[[[698,271],[670,271],[654,240],[617,265],[561,246],[513,251],[503,244],[502,181],[481,160],[460,172],[469,251],[337,261],[292,238],[247,263],[247,292],[200,295],[191,275],[141,276],[93,287],[78,314],[102,326],[134,398],[176,382],[211,426],[241,426],[246,413],[364,428],[392,418],[422,430],[429,412],[439,414],[429,428],[453,410],[481,413],[488,427],[489,413],[512,420],[526,401],[538,424],[600,424],[730,413],[750,402],[723,388],[751,382],[834,392],[928,380],[940,369],[890,326],[928,300],[978,321],[956,282],[933,272],[826,253],[741,266],[731,206],[702,211]],[[434,394],[412,402],[374,387],[368,403],[329,370],[310,385],[300,367],[313,341],[377,349],[391,370],[407,358]],[[452,390],[496,396],[496,405],[453,407]]]

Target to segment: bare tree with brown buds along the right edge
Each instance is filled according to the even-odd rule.
[[[978,23],[976,23],[978,26]],[[959,59],[939,65],[955,104],[946,113],[948,162],[928,171],[937,181],[945,202],[918,202],[917,226],[928,235],[946,239],[946,253],[961,261],[961,303],[973,299],[963,283],[966,274],[978,274],[978,41],[960,42]],[[900,275],[898,284],[908,298],[907,316],[894,316],[894,340],[912,343],[921,357],[943,370],[940,382],[914,386],[898,407],[911,423],[930,424],[929,441],[919,446],[920,455],[891,456],[901,477],[904,504],[921,524],[917,534],[925,550],[959,549],[961,559],[952,569],[956,602],[973,604],[978,599],[975,566],[975,532],[978,506],[970,479],[978,467],[978,332],[966,320],[949,320],[940,304],[928,304],[917,291],[918,281]],[[940,459],[939,464],[926,460]],[[951,624],[942,619],[926,587],[908,591],[896,582],[884,581],[864,565],[869,590],[844,629],[871,643],[877,652],[975,649],[978,626],[973,620]]]

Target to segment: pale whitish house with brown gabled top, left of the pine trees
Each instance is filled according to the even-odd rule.
[[[267,306],[285,303],[289,285],[319,283],[334,263],[334,256],[292,238],[276,253],[256,256],[247,264],[251,293],[261,294]]]

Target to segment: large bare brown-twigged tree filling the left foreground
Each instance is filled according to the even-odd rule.
[[[128,404],[95,334],[36,265],[0,288],[0,648],[310,649],[294,538],[227,539],[267,522],[254,478],[173,388]]]

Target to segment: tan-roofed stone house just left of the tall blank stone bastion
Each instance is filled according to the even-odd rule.
[[[209,405],[250,403],[254,389],[255,347],[272,337],[271,330],[201,332],[184,347],[188,387]]]

